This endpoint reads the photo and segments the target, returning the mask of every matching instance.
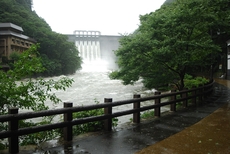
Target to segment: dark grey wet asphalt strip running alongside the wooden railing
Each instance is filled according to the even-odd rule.
[[[74,137],[72,142],[56,144],[55,147],[41,146],[36,151],[24,151],[23,154],[133,154],[145,153],[156,143],[177,134],[196,124],[214,111],[226,105],[230,99],[228,87],[215,83],[213,96],[197,106],[166,112],[160,118],[129,124],[111,132],[97,132]],[[149,149],[148,149],[149,150]],[[146,151],[148,151],[146,150]],[[150,150],[151,151],[151,150]],[[147,152],[154,153],[154,152]],[[161,153],[161,152],[157,152]]]

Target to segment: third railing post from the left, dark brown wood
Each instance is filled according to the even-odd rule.
[[[112,103],[112,98],[104,98],[104,103]],[[104,114],[105,115],[111,115],[112,114],[112,106],[104,108]],[[112,118],[108,118],[105,120],[105,130],[111,131],[112,130]]]

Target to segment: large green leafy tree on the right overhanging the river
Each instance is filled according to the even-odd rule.
[[[120,41],[115,52],[119,70],[110,77],[124,84],[141,78],[148,88],[175,84],[183,89],[185,74],[209,70],[226,46],[229,3],[176,0],[140,16],[138,30]]]

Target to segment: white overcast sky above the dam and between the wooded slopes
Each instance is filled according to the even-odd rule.
[[[102,35],[132,33],[139,15],[159,9],[165,0],[33,0],[33,10],[53,31],[96,30]]]

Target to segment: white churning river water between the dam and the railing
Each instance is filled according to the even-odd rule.
[[[141,97],[154,95],[155,89],[145,89],[141,81],[134,85],[123,85],[120,80],[111,80],[108,76],[110,72],[103,65],[99,65],[99,67],[98,65],[84,66],[82,70],[68,76],[74,80],[70,88],[67,88],[66,91],[54,90],[53,92],[62,102],[72,102],[73,106],[92,105],[95,104],[95,100],[104,103],[104,98],[120,101],[132,99],[134,94],[141,94]],[[52,77],[52,79],[57,80],[61,77]],[[152,104],[153,102],[144,102],[142,105],[149,103]],[[63,108],[63,103],[53,106],[50,101],[47,101],[46,104],[50,109]],[[132,104],[117,106],[113,108],[113,112],[131,109],[132,107]],[[132,118],[132,115],[119,117],[119,124],[129,122],[130,118]]]

